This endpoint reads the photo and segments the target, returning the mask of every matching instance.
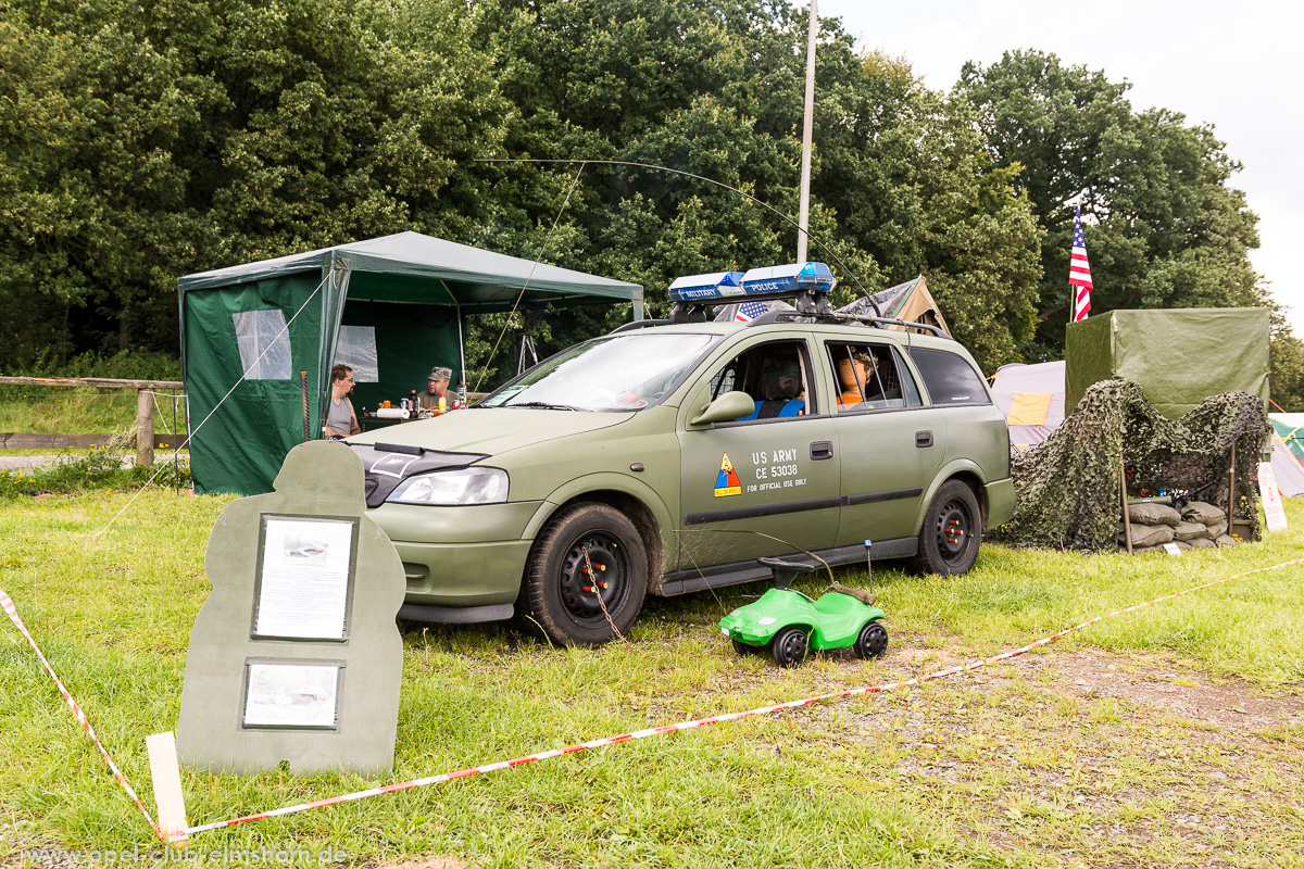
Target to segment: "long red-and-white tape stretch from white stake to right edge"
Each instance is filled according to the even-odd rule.
[[[681,730],[692,730],[694,727],[705,727],[707,724],[716,724],[720,722],[732,722],[739,718],[750,718],[752,715],[765,715],[769,713],[784,711],[785,709],[797,709],[798,706],[807,706],[810,704],[818,704],[825,700],[836,700],[840,697],[854,697],[857,694],[872,694],[880,691],[895,691],[897,688],[905,688],[909,685],[918,685],[922,681],[928,681],[930,679],[941,679],[943,676],[952,676],[957,672],[966,672],[969,670],[978,670],[979,667],[986,667],[990,663],[996,663],[998,661],[1005,661],[1007,658],[1013,658],[1015,655],[1021,655],[1025,651],[1031,651],[1041,646],[1055,642],[1060,637],[1064,637],[1074,631],[1081,631],[1082,628],[1090,627],[1097,621],[1108,619],[1111,616],[1123,615],[1125,612],[1133,612],[1142,607],[1148,607],[1151,603],[1159,603],[1162,601],[1171,601],[1172,598],[1179,598],[1183,594],[1189,594],[1191,591],[1198,591],[1201,589],[1208,589],[1214,585],[1222,585],[1223,582],[1231,582],[1232,580],[1239,580],[1253,573],[1266,573],[1267,571],[1277,571],[1283,567],[1291,567],[1294,564],[1304,564],[1304,559],[1296,559],[1294,562],[1283,562],[1282,564],[1274,564],[1271,567],[1261,567],[1254,571],[1247,571],[1244,573],[1237,573],[1236,576],[1228,576],[1223,580],[1215,580],[1213,582],[1205,582],[1204,585],[1197,585],[1184,591],[1175,591],[1174,594],[1166,594],[1161,598],[1153,601],[1146,601],[1145,603],[1138,603],[1136,606],[1127,607],[1124,610],[1115,610],[1114,612],[1106,612],[1104,615],[1098,615],[1089,621],[1073,625],[1054,633],[1048,637],[1038,640],[1037,642],[1030,642],[1021,649],[1015,649],[1013,651],[1003,651],[999,655],[992,655],[982,661],[973,661],[966,664],[960,664],[956,667],[949,667],[947,670],[939,670],[938,672],[928,674],[927,676],[918,676],[915,679],[908,679],[905,681],[891,681],[882,685],[872,685],[865,688],[852,688],[849,691],[836,691],[828,694],[819,694],[816,697],[806,697],[803,700],[790,700],[786,704],[777,704],[775,706],[760,706],[758,709],[748,709],[745,713],[728,713],[725,715],[712,715],[711,718],[698,718],[694,720],[679,722],[678,724],[664,724],[661,727],[649,727],[647,730],[636,730],[631,734],[621,734],[619,736],[608,736],[606,739],[595,739],[588,743],[579,743],[576,745],[567,745],[566,748],[554,748],[546,752],[539,752],[537,754],[527,754],[524,757],[516,757],[510,761],[498,761],[497,763],[486,763],[485,766],[475,766],[466,770],[458,770],[456,773],[445,773],[442,775],[432,775],[422,779],[412,779],[411,782],[402,782],[399,784],[386,784],[383,787],[374,787],[366,791],[355,791],[352,793],[344,793],[342,796],[333,796],[326,800],[316,800],[313,803],[303,803],[300,805],[288,805],[283,809],[273,809],[270,812],[259,812],[258,814],[246,814],[243,818],[232,818],[231,821],[216,821],[214,823],[202,823],[196,827],[189,827],[185,833],[193,835],[196,833],[206,833],[209,830],[219,830],[222,827],[235,826],[237,823],[244,823],[246,821],[261,821],[262,818],[275,818],[282,814],[293,814],[296,812],[304,812],[306,809],[319,809],[326,805],[335,805],[338,803],[352,803],[355,800],[361,800],[369,796],[379,796],[382,793],[394,793],[395,791],[407,791],[415,787],[424,787],[426,784],[439,784],[442,782],[449,782],[452,779],[466,778],[468,775],[479,775],[480,773],[496,773],[498,770],[506,770],[512,766],[522,766],[524,763],[533,763],[535,761],[545,761],[550,757],[561,757],[562,754],[575,754],[578,752],[584,752],[591,748],[602,748],[604,745],[614,745],[617,743],[629,743],[636,739],[645,739],[648,736],[660,736],[661,734],[673,734]]]

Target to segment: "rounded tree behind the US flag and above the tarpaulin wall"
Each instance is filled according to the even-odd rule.
[[[1240,165],[1211,128],[1166,109],[1133,112],[1128,87],[1035,51],[961,73],[957,91],[977,109],[994,162],[1020,168],[1016,189],[1046,233],[1029,356],[1063,353],[1074,205],[1086,227],[1093,314],[1240,306],[1262,296],[1248,259],[1257,218],[1228,186]]]

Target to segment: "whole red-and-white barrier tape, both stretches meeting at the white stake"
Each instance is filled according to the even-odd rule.
[[[841,698],[841,697],[854,697],[857,694],[872,694],[875,692],[896,691],[898,688],[906,688],[906,687],[910,687],[910,685],[918,685],[921,683],[925,683],[925,681],[928,681],[928,680],[932,680],[932,679],[941,679],[943,676],[952,676],[952,675],[958,674],[958,672],[968,672],[970,670],[978,670],[979,667],[986,667],[987,664],[996,663],[998,661],[1007,661],[1007,659],[1013,658],[1016,655],[1021,655],[1021,654],[1024,654],[1026,651],[1031,651],[1033,649],[1038,649],[1041,646],[1045,646],[1045,645],[1048,645],[1051,642],[1055,642],[1056,640],[1059,640],[1061,637],[1065,637],[1065,636],[1073,633],[1074,631],[1081,631],[1084,628],[1088,628],[1088,627],[1095,624],[1097,621],[1102,621],[1104,619],[1110,619],[1110,618],[1116,616],[1116,615],[1124,615],[1124,614],[1128,614],[1128,612],[1134,612],[1137,610],[1141,610],[1144,607],[1151,606],[1154,603],[1161,603],[1163,601],[1171,601],[1171,599],[1179,598],[1179,597],[1181,597],[1184,594],[1191,594],[1192,591],[1200,591],[1202,589],[1209,589],[1209,588],[1213,588],[1215,585],[1222,585],[1224,582],[1231,582],[1232,580],[1239,580],[1239,578],[1245,577],[1245,576],[1252,576],[1254,573],[1266,573],[1269,571],[1278,571],[1278,569],[1281,569],[1283,567],[1294,567],[1296,564],[1304,564],[1304,559],[1295,559],[1292,562],[1283,562],[1281,564],[1273,564],[1270,567],[1261,567],[1261,568],[1257,568],[1257,569],[1253,569],[1253,571],[1245,571],[1244,573],[1236,573],[1235,576],[1228,576],[1228,577],[1224,577],[1222,580],[1214,580],[1213,582],[1205,582],[1204,585],[1196,585],[1196,586],[1192,586],[1189,589],[1184,589],[1181,591],[1174,591],[1172,594],[1166,594],[1163,597],[1154,598],[1153,601],[1146,601],[1145,603],[1137,603],[1134,606],[1125,607],[1123,610],[1115,610],[1114,612],[1106,612],[1104,615],[1098,615],[1094,619],[1084,621],[1082,624],[1073,625],[1072,628],[1065,628],[1064,631],[1060,631],[1059,633],[1052,633],[1048,637],[1043,637],[1043,638],[1041,638],[1041,640],[1038,640],[1035,642],[1030,642],[1026,646],[1022,646],[1020,649],[1013,649],[1011,651],[1003,651],[999,655],[992,655],[991,658],[983,658],[983,659],[979,659],[979,661],[971,661],[971,662],[969,662],[966,664],[957,664],[957,666],[949,667],[947,670],[939,670],[938,672],[932,672],[932,674],[928,674],[926,676],[917,676],[914,679],[906,679],[904,681],[884,683],[882,685],[867,685],[867,687],[862,687],[862,688],[852,688],[852,689],[848,689],[848,691],[836,691],[836,692],[827,693],[827,694],[818,694],[815,697],[806,697],[803,700],[790,700],[790,701],[788,701],[785,704],[777,704],[775,706],[760,706],[758,709],[750,709],[750,710],[743,711],[743,713],[726,713],[724,715],[712,715],[709,718],[698,718],[698,719],[694,719],[694,720],[679,722],[678,724],[664,724],[661,727],[649,727],[647,730],[638,730],[638,731],[632,731],[630,734],[621,734],[619,736],[608,736],[605,739],[595,739],[595,740],[591,740],[588,743],[579,743],[579,744],[575,744],[575,745],[567,745],[566,748],[554,748],[554,749],[550,749],[550,750],[546,750],[546,752],[539,752],[539,753],[535,753],[535,754],[527,754],[524,757],[516,757],[516,758],[512,758],[510,761],[498,761],[497,763],[486,763],[484,766],[475,766],[475,767],[469,767],[469,769],[464,769],[464,770],[458,770],[455,773],[443,773],[442,775],[432,775],[432,776],[428,776],[428,778],[412,779],[409,782],[400,782],[400,783],[396,783],[396,784],[386,784],[386,786],[382,786],[382,787],[368,788],[365,791],[355,791],[352,793],[344,793],[344,795],[340,795],[340,796],[333,796],[333,797],[327,797],[325,800],[314,800],[312,803],[301,803],[299,805],[288,805],[288,806],[284,806],[284,808],[280,808],[280,809],[271,809],[270,812],[259,812],[257,814],[246,814],[244,817],[232,818],[230,821],[215,821],[213,823],[201,823],[198,826],[188,827],[184,833],[175,834],[173,836],[171,836],[171,840],[179,840],[179,839],[183,839],[183,838],[185,838],[188,835],[194,835],[197,833],[207,833],[209,830],[220,830],[223,827],[231,827],[231,826],[235,826],[237,823],[245,823],[248,821],[261,821],[263,818],[275,818],[275,817],[279,817],[279,816],[283,816],[283,814],[293,814],[293,813],[297,813],[297,812],[306,812],[308,809],[319,809],[319,808],[323,808],[323,806],[327,806],[327,805],[336,805],[339,803],[353,803],[356,800],[361,800],[361,799],[365,799],[365,797],[369,797],[369,796],[379,796],[382,793],[394,793],[394,792],[398,792],[398,791],[408,791],[411,788],[425,787],[428,784],[439,784],[442,782],[450,782],[452,779],[467,778],[468,775],[477,775],[480,773],[496,773],[498,770],[506,770],[506,769],[511,769],[514,766],[523,766],[524,763],[533,763],[535,761],[545,761],[545,760],[548,760],[550,757],[561,757],[563,754],[575,754],[578,752],[584,752],[584,750],[588,750],[591,748],[602,748],[604,745],[614,745],[617,743],[629,743],[629,741],[632,741],[632,740],[636,740],[636,739],[645,739],[648,736],[660,736],[661,734],[672,734],[674,731],[681,731],[681,730],[692,730],[695,727],[705,727],[707,724],[716,724],[716,723],[720,723],[720,722],[730,722],[730,720],[737,720],[739,718],[750,718],[752,715],[765,715],[765,714],[769,714],[769,713],[778,713],[778,711],[784,711],[786,709],[797,709],[798,706],[807,706],[810,704],[818,704],[818,702],[822,702],[822,701],[825,701],[825,700],[837,700],[837,698]],[[126,776],[124,776],[121,774],[121,771],[113,763],[112,758],[110,758],[108,752],[106,752],[104,747],[100,745],[99,739],[95,736],[95,731],[91,730],[90,723],[86,720],[86,717],[82,714],[81,709],[78,709],[77,704],[68,694],[68,691],[64,688],[63,683],[59,681],[59,676],[55,675],[55,671],[51,670],[51,667],[50,667],[48,663],[46,663],[46,658],[44,658],[44,655],[40,654],[40,649],[37,648],[37,644],[31,640],[31,634],[27,633],[27,629],[23,627],[22,621],[18,619],[18,614],[13,608],[13,602],[9,599],[9,597],[3,590],[0,590],[0,603],[4,605],[5,612],[9,614],[9,619],[13,620],[13,623],[18,627],[18,631],[22,632],[22,636],[27,637],[27,642],[31,644],[31,648],[37,651],[37,655],[40,658],[40,662],[43,664],[46,664],[46,670],[50,672],[51,677],[55,680],[55,684],[59,685],[59,691],[64,696],[64,700],[68,701],[68,705],[73,709],[73,713],[77,715],[77,720],[80,720],[86,727],[86,731],[90,734],[90,737],[95,741],[95,745],[99,748],[100,753],[104,756],[104,761],[108,763],[108,767],[113,771],[113,775],[117,776],[117,780],[126,790],[126,793],[136,803],[137,808],[140,808],[141,813],[145,816],[145,819],[150,822],[150,826],[154,829],[155,835],[158,835],[159,838],[164,838],[163,834],[162,834],[162,831],[159,830],[158,825],[155,825],[154,819],[150,818],[149,812],[145,810],[145,806],[141,804],[140,797],[136,796],[136,792],[132,790],[130,784],[126,782]]]

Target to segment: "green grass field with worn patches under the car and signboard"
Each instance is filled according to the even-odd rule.
[[[153,810],[146,735],[177,718],[203,548],[228,499],[0,500],[0,588]],[[190,823],[630,730],[934,672],[1091,616],[1304,556],[985,546],[965,577],[876,569],[882,661],[737,657],[719,619],[764,586],[652,601],[630,644],[558,650],[501,627],[408,625],[381,780],[183,773]],[[862,585],[863,569],[841,569]],[[359,866],[1304,865],[1304,569],[1106,620],[909,691],[652,737],[201,834],[193,847]],[[803,590],[815,593],[818,580]],[[154,847],[26,644],[0,625],[0,865],[27,848]],[[301,853],[300,853],[301,852]],[[235,855],[235,856],[230,856]],[[244,855],[244,856],[241,856]]]

